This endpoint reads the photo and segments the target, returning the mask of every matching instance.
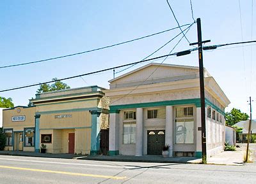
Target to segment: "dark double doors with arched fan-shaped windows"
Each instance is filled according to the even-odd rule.
[[[148,131],[147,135],[148,155],[161,155],[165,143],[165,131]]]

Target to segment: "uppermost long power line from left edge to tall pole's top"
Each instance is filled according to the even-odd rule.
[[[184,24],[181,27],[184,27],[186,25],[191,25],[191,24]],[[167,30],[161,31],[161,32],[156,32],[154,34],[149,34],[147,36],[143,36],[143,37],[140,37],[140,38],[131,39],[129,41],[123,41],[121,43],[115,43],[113,45],[103,46],[103,47],[100,47],[100,48],[94,48],[92,50],[86,50],[84,52],[77,52],[77,53],[72,53],[72,54],[68,54],[68,55],[62,55],[62,56],[58,56],[58,57],[52,57],[52,58],[49,58],[49,59],[36,60],[36,61],[31,61],[31,62],[24,62],[24,63],[20,63],[20,64],[12,64],[12,65],[8,65],[8,66],[0,66],[0,69],[6,68],[6,67],[15,67],[15,66],[23,66],[23,65],[27,65],[27,64],[35,64],[35,63],[38,63],[38,62],[45,62],[47,60],[61,59],[63,57],[71,57],[71,56],[80,55],[80,54],[83,54],[83,53],[94,52],[94,51],[97,51],[97,50],[102,50],[102,49],[105,49],[105,48],[110,48],[110,47],[113,47],[113,46],[123,45],[125,43],[130,43],[132,41],[137,41],[137,40],[140,40],[140,39],[148,38],[150,36],[155,36],[157,34],[162,34],[164,32],[172,31],[172,30],[178,29],[178,28],[180,29],[180,26],[179,27],[174,27],[172,29],[167,29]]]

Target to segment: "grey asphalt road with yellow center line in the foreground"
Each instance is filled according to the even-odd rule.
[[[0,155],[0,183],[255,183],[256,165],[217,166]]]

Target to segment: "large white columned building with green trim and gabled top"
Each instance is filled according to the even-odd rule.
[[[230,104],[206,71],[207,155],[223,151],[225,108]],[[169,156],[201,157],[199,69],[151,63],[109,81],[110,155],[157,155],[170,145]]]

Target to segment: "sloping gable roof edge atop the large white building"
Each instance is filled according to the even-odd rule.
[[[183,67],[183,68],[188,68],[188,69],[198,69],[199,70],[199,67],[198,66],[186,66],[186,65],[178,65],[178,64],[161,64],[161,63],[158,63],[158,62],[150,62],[149,64],[146,64],[144,66],[141,66],[141,67],[138,67],[137,69],[134,69],[132,71],[129,71],[128,73],[125,73],[125,74],[122,74],[116,78],[113,78],[112,80],[109,80],[108,82],[111,83],[112,81],[115,81],[115,80],[118,80],[124,76],[127,76],[129,74],[132,74],[132,73],[135,73],[136,71],[140,71],[141,69],[145,68],[145,67],[148,67],[148,66],[153,66],[153,65],[157,65],[157,66],[171,66],[171,67]],[[209,72],[204,68],[204,71],[209,74]],[[209,76],[211,76],[209,74]]]

